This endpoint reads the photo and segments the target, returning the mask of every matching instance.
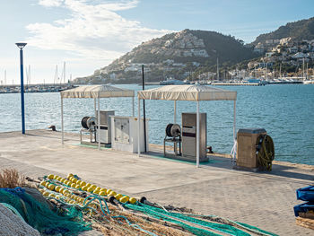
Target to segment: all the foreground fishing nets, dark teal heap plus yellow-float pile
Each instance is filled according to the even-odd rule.
[[[134,197],[117,194],[111,189],[86,184],[73,175],[67,178],[69,180],[54,175],[43,179],[39,190],[0,188],[0,203],[12,205],[16,208],[15,214],[18,211],[21,219],[45,235],[75,235],[93,227],[105,235],[249,236],[253,232],[275,236],[249,224],[215,215],[191,214],[191,211],[187,213],[175,208],[168,211],[162,205],[147,201],[142,204],[142,198],[136,201]],[[90,187],[83,189],[85,185]],[[106,189],[105,195],[100,194],[105,191],[100,189]]]

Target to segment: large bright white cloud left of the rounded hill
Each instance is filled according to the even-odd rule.
[[[138,1],[40,0],[45,6],[69,10],[70,16],[52,23],[32,23],[28,43],[44,49],[65,50],[83,58],[115,59],[141,42],[170,31],[145,28],[116,11],[136,7]]]

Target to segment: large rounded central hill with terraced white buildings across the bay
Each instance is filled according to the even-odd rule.
[[[146,41],[94,74],[75,83],[138,83],[144,65],[147,81],[185,79],[191,72],[214,70],[257,57],[243,41],[214,31],[184,30]]]

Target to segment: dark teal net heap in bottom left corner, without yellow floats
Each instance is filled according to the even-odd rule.
[[[42,235],[75,235],[92,229],[90,223],[83,221],[80,210],[70,205],[57,208],[36,188],[0,188],[0,203],[16,211]]]

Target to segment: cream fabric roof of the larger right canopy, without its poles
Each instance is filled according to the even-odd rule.
[[[207,85],[166,85],[137,92],[143,100],[169,101],[236,101],[237,92],[222,90]]]

